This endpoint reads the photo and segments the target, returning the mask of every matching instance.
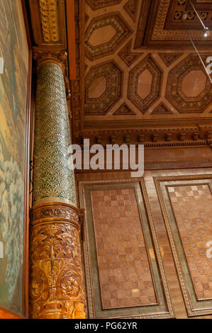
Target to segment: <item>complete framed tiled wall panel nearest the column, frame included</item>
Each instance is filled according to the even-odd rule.
[[[174,317],[145,185],[80,182],[89,317]]]

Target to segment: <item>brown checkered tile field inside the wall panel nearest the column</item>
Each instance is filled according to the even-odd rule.
[[[134,189],[91,191],[103,309],[157,304]]]

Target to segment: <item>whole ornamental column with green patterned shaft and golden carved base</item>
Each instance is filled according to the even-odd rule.
[[[79,211],[74,171],[67,167],[70,131],[62,59],[48,53],[38,60],[30,317],[84,318]]]

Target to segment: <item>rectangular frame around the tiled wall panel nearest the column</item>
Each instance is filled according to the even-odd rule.
[[[106,188],[137,188],[137,202],[138,209],[140,210],[141,220],[145,221],[145,225],[148,226],[149,239],[148,244],[152,244],[152,249],[155,252],[155,267],[157,266],[157,273],[160,276],[159,280],[157,279],[157,295],[160,289],[160,305],[150,305],[145,307],[134,307],[135,310],[132,311],[131,308],[125,309],[116,309],[116,310],[96,310],[96,304],[94,303],[94,288],[92,281],[92,268],[91,268],[91,254],[90,254],[90,242],[89,242],[89,230],[88,224],[92,222],[91,217],[91,205],[88,204],[90,200],[89,191],[90,189],[98,188],[98,189],[106,189]],[[116,181],[108,180],[108,181],[79,181],[79,202],[80,208],[87,208],[87,218],[85,218],[84,225],[84,268],[85,268],[85,280],[86,280],[86,288],[87,288],[87,304],[88,304],[88,317],[89,318],[112,318],[112,317],[128,317],[128,318],[173,318],[174,310],[172,307],[172,302],[169,295],[169,290],[167,286],[166,277],[164,274],[164,268],[162,264],[162,258],[160,255],[160,249],[157,242],[155,226],[152,220],[152,214],[150,211],[150,204],[147,199],[147,192],[145,188],[145,183],[140,179],[119,179]],[[146,232],[144,232],[146,234]],[[145,236],[145,242],[147,242]],[[152,242],[152,243],[151,243]],[[94,266],[94,265],[92,265]],[[154,271],[155,268],[153,268]],[[154,271],[155,273],[155,271]],[[155,276],[154,276],[155,279]],[[161,283],[158,283],[158,282]],[[95,281],[95,283],[98,281]],[[160,285],[160,286],[159,286]],[[159,289],[158,289],[159,288]],[[162,292],[162,293],[161,293]],[[163,294],[163,295],[162,295]],[[163,297],[163,300],[161,298]],[[96,299],[95,299],[96,302]],[[162,305],[163,303],[163,306]],[[139,308],[139,310],[138,310]],[[106,313],[107,312],[107,313]],[[104,315],[106,314],[106,315]]]

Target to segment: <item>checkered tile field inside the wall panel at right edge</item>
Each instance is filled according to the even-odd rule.
[[[206,256],[206,243],[212,239],[210,188],[169,186],[168,191],[196,298],[212,299],[212,261]]]

